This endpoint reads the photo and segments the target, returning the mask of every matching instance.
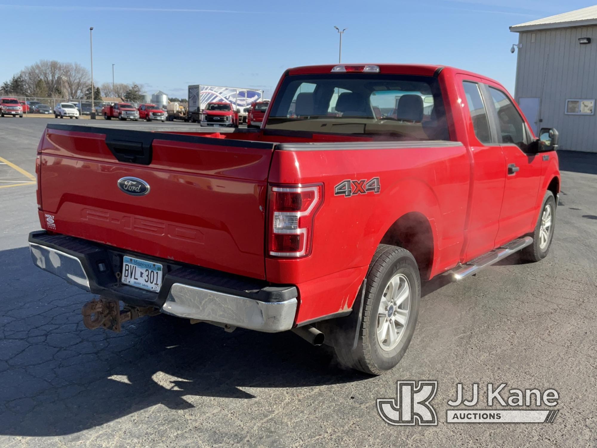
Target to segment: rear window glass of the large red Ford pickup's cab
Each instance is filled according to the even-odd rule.
[[[337,134],[391,134],[448,140],[438,80],[432,76],[330,73],[287,76],[268,129]]]

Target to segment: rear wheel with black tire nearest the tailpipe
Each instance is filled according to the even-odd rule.
[[[399,293],[395,302],[391,299],[389,306],[382,305],[382,300],[387,304],[386,297],[391,296],[392,290]],[[398,303],[399,299],[403,301]],[[367,274],[361,321],[355,320],[351,331],[338,337],[334,346],[340,363],[371,375],[381,375],[395,367],[413,337],[420,299],[421,278],[413,254],[402,247],[380,244]],[[388,311],[392,318],[380,314],[383,311]],[[395,331],[398,320],[404,324],[392,341],[390,331]],[[377,336],[378,329],[383,331],[381,338]],[[356,332],[358,339],[353,348]]]

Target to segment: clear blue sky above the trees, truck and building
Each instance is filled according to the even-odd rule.
[[[56,3],[51,5],[50,3]],[[96,84],[143,84],[186,97],[189,84],[270,90],[284,69],[342,61],[437,63],[483,73],[513,92],[513,24],[591,6],[569,0],[0,0],[0,82],[40,59],[89,67]]]

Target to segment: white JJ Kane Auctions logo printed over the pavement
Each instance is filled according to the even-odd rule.
[[[396,398],[378,398],[377,412],[390,425],[437,425],[435,409],[430,404],[438,389],[437,381],[398,381]],[[456,398],[446,411],[447,423],[553,423],[557,409],[528,409],[530,406],[556,406],[555,389],[509,389],[506,384],[487,385],[487,406],[491,409],[469,409],[479,403],[479,384],[473,383],[470,400],[464,399],[463,385],[456,386]],[[461,408],[464,406],[464,408]],[[519,409],[504,409],[504,407]],[[527,409],[520,409],[527,408]]]

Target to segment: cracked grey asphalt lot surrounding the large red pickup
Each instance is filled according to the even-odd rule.
[[[46,122],[0,119],[0,157],[34,173]],[[92,297],[30,260],[35,186],[0,189],[0,446],[596,446],[597,154],[560,158],[549,256],[427,284],[407,354],[378,378],[341,369],[292,333],[226,333],[165,316],[119,334],[87,330],[81,306]],[[0,165],[2,179],[19,174]],[[376,398],[413,379],[438,381],[438,426],[378,416]],[[553,388],[560,412],[552,424],[447,424],[458,382],[469,395],[475,382]]]

